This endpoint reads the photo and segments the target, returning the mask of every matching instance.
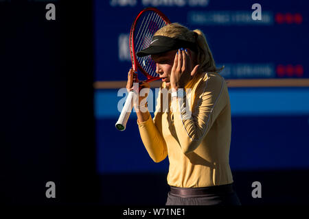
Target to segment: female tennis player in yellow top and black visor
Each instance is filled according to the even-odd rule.
[[[168,156],[170,162],[166,205],[240,205],[229,167],[229,93],[203,32],[166,25],[137,53],[145,55],[155,61],[163,83],[154,118],[148,110],[139,110],[147,109],[145,96],[139,96],[135,111],[150,157],[161,162]],[[148,83],[141,87],[150,88]],[[131,69],[127,89],[132,88]]]

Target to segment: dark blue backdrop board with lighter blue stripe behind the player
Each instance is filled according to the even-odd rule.
[[[95,1],[95,81],[126,80],[130,61],[118,58],[118,36],[128,34],[133,19],[144,8],[142,1],[136,2],[135,6],[112,7],[111,1]],[[268,25],[194,25],[187,16],[190,12],[251,13],[253,3],[210,0],[205,7],[187,4],[158,8],[172,22],[202,29],[220,64],[269,64],[273,66],[273,78],[279,77],[275,70],[278,64],[300,64],[304,67],[303,77],[309,77],[308,1],[259,1],[262,18],[263,13],[272,18]],[[302,23],[275,21],[275,14],[288,12],[301,14]],[[106,23],[107,19],[113,22]],[[309,168],[309,88],[229,88],[229,93],[232,170]],[[126,131],[115,129],[117,101],[121,98],[117,90],[95,90],[98,172],[167,172],[168,159],[155,164],[144,149],[134,113]]]

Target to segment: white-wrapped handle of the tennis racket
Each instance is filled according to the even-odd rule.
[[[126,122],[128,122],[128,118],[133,109],[133,94],[134,94],[133,91],[130,91],[128,93],[128,97],[126,98],[126,103],[124,103],[122,112],[115,125],[119,131],[124,131],[124,129],[126,129]]]

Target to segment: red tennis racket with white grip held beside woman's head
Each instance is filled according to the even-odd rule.
[[[136,53],[149,47],[155,32],[169,23],[170,20],[168,20],[162,12],[157,10],[157,8],[146,8],[139,12],[135,18],[130,29],[129,39],[130,56],[134,70],[133,83],[136,84],[138,81],[137,70],[146,77],[146,82],[159,79],[159,75],[156,73],[156,64],[151,59],[151,56],[137,57]],[[137,88],[134,88],[133,90],[137,90]],[[124,129],[126,129],[126,123],[128,122],[128,118],[133,109],[133,96],[134,91],[130,91],[115,125],[119,131],[124,131]]]

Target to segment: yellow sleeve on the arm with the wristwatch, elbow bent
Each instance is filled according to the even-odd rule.
[[[208,77],[198,86],[195,92],[192,111],[187,106],[187,94],[172,100],[174,125],[183,153],[194,151],[220,112],[227,105],[226,101],[219,101],[224,90],[225,80],[222,77]]]

